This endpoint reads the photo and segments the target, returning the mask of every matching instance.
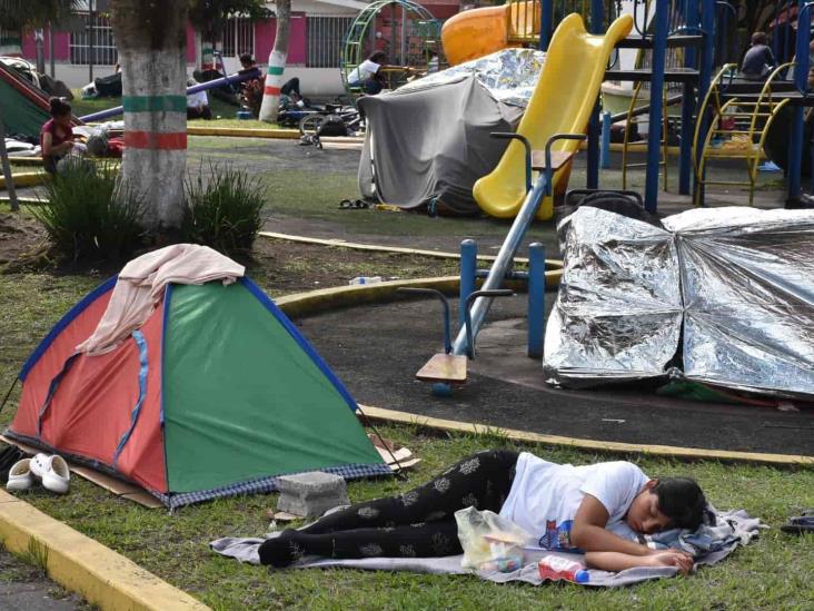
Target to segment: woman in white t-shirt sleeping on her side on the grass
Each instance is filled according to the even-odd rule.
[[[693,558],[656,551],[635,533],[697,529],[706,500],[686,477],[648,479],[629,462],[573,466],[510,450],[478,452],[399,496],[357,503],[305,529],[284,531],[259,548],[260,562],[287,566],[304,554],[328,558],[441,556],[463,552],[455,512],[499,512],[540,548],[583,551],[589,566],[622,571],[675,566]]]

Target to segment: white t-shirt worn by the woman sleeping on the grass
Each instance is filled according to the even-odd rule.
[[[525,529],[540,548],[575,550],[570,528],[586,494],[608,513],[609,531],[629,533],[623,519],[648,477],[633,463],[556,464],[523,452],[500,516]]]

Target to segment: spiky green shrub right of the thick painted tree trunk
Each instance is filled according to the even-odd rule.
[[[221,253],[247,253],[262,226],[266,191],[259,179],[231,166],[209,165],[185,184],[185,242],[205,244]]]

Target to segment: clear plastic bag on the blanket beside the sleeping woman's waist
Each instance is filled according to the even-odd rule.
[[[467,507],[455,512],[464,569],[516,571],[524,563],[523,548],[532,535],[492,511]]]

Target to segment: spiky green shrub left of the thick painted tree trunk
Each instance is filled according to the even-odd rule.
[[[68,164],[43,188],[47,200],[31,211],[60,254],[120,259],[140,245],[143,200],[121,186],[117,166]]]

